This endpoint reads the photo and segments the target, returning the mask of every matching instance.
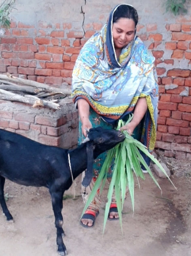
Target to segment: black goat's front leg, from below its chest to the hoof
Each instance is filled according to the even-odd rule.
[[[63,207],[63,195],[64,191],[51,191],[51,199],[52,199],[52,206],[53,206],[53,211],[54,211],[54,216],[55,216],[55,226],[57,229],[57,238],[56,238],[56,243],[58,246],[58,253],[62,256],[67,255],[66,252],[66,247],[64,245],[62,235],[64,235],[64,230],[62,228],[63,225],[63,217],[62,217],[62,207]]]

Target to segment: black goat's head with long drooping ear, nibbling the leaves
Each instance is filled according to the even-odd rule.
[[[83,143],[87,142],[87,171],[83,179],[83,186],[87,187],[93,175],[93,160],[105,152],[115,147],[119,142],[124,141],[125,135],[114,129],[104,129],[102,127],[91,128]]]

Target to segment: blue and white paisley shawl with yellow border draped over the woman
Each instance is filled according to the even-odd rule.
[[[118,7],[118,6],[117,6]],[[121,50],[119,59],[112,39],[112,18],[83,46],[72,74],[72,98],[87,100],[106,121],[115,121],[134,110],[138,98],[145,97],[142,142],[153,150],[156,140],[158,85],[155,58],[140,38]]]

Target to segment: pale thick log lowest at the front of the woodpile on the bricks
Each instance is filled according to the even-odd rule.
[[[10,100],[10,101],[17,101],[17,102],[23,102],[26,104],[33,105],[32,107],[36,106],[47,106],[49,108],[53,109],[60,109],[61,106],[57,103],[48,101],[48,100],[40,100],[38,97],[33,95],[18,95],[16,93],[12,93],[10,91],[5,91],[0,89],[0,99],[1,100]]]

